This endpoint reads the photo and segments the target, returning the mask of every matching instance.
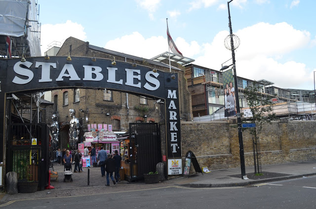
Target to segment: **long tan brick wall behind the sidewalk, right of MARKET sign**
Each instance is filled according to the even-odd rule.
[[[272,122],[257,135],[262,165],[316,160],[316,121]],[[246,166],[253,166],[252,135],[242,130]],[[200,167],[240,167],[237,124],[182,122],[182,156],[194,152]],[[183,159],[184,162],[184,159]]]

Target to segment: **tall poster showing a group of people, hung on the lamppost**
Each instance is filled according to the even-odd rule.
[[[223,72],[225,117],[236,116],[236,97],[233,69]]]

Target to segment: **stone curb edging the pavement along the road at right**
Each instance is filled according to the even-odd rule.
[[[247,186],[252,184],[258,184],[258,183],[265,183],[265,182],[271,182],[271,181],[280,181],[280,180],[287,180],[287,179],[293,179],[293,178],[301,178],[303,176],[311,176],[316,175],[316,173],[312,174],[299,174],[299,175],[286,175],[281,177],[275,177],[275,178],[265,178],[265,179],[258,179],[258,180],[247,180],[244,182],[238,182],[238,183],[189,183],[189,184],[181,184],[181,186],[185,187],[192,187],[192,188],[214,188],[214,187],[232,187],[232,186]]]

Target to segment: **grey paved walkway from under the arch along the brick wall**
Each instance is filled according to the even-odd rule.
[[[74,169],[75,165],[73,165]],[[190,177],[175,177],[170,180],[166,180],[156,184],[145,184],[144,182],[130,183],[127,181],[120,181],[118,184],[113,185],[110,180],[110,186],[105,186],[106,177],[101,176],[100,168],[90,168],[90,183],[87,185],[88,169],[83,168],[84,172],[74,173],[73,182],[66,180],[64,182],[64,166],[57,166],[54,164],[54,170],[58,172],[59,177],[51,179],[51,185],[54,189],[37,191],[31,194],[5,194],[0,203],[23,200],[23,199],[36,199],[36,198],[55,198],[65,196],[76,195],[93,195],[104,192],[116,192],[116,191],[135,191],[140,189],[150,189],[159,187],[168,187],[173,185],[186,186],[186,187],[229,187],[229,186],[246,186],[264,182],[272,182],[278,180],[285,180],[290,178],[298,178],[309,175],[316,175],[316,161],[299,162],[299,163],[287,163],[276,165],[264,165],[262,166],[262,172],[285,174],[280,177],[264,178],[265,176],[256,176],[262,179],[241,179],[241,177],[232,177],[232,175],[241,176],[240,168],[235,169],[222,169],[211,170],[207,174],[195,174]],[[254,167],[246,167],[246,174],[253,174]]]

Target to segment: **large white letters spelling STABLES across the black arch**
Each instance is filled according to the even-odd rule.
[[[15,63],[13,70],[16,74],[12,82],[16,84],[27,84],[31,82],[34,78],[34,72],[30,70],[33,63],[31,62],[17,62]],[[57,64],[56,63],[44,63],[44,62],[35,62],[35,69],[41,70],[41,78],[39,79],[39,83],[42,82],[52,82],[53,79],[50,77],[50,70],[56,69]],[[86,81],[101,81],[103,80],[104,76],[101,73],[102,68],[98,66],[86,66],[83,65],[82,68],[84,69],[84,77],[82,80]],[[107,68],[108,71],[108,83],[116,83],[123,85],[123,80],[117,80],[117,68]],[[135,69],[125,69],[125,75],[126,75],[126,82],[124,83],[127,86],[137,87],[141,88],[141,70],[135,70]],[[20,76],[19,76],[20,75]],[[150,91],[155,91],[160,87],[160,82],[157,79],[159,73],[148,71],[145,74],[145,80],[146,83],[143,85],[143,87]],[[64,77],[69,77],[69,80],[77,81],[81,80],[81,78],[78,76],[78,73],[74,66],[72,64],[65,64],[59,73],[58,77],[55,78],[55,81],[64,81]],[[170,93],[171,96],[172,93]]]

